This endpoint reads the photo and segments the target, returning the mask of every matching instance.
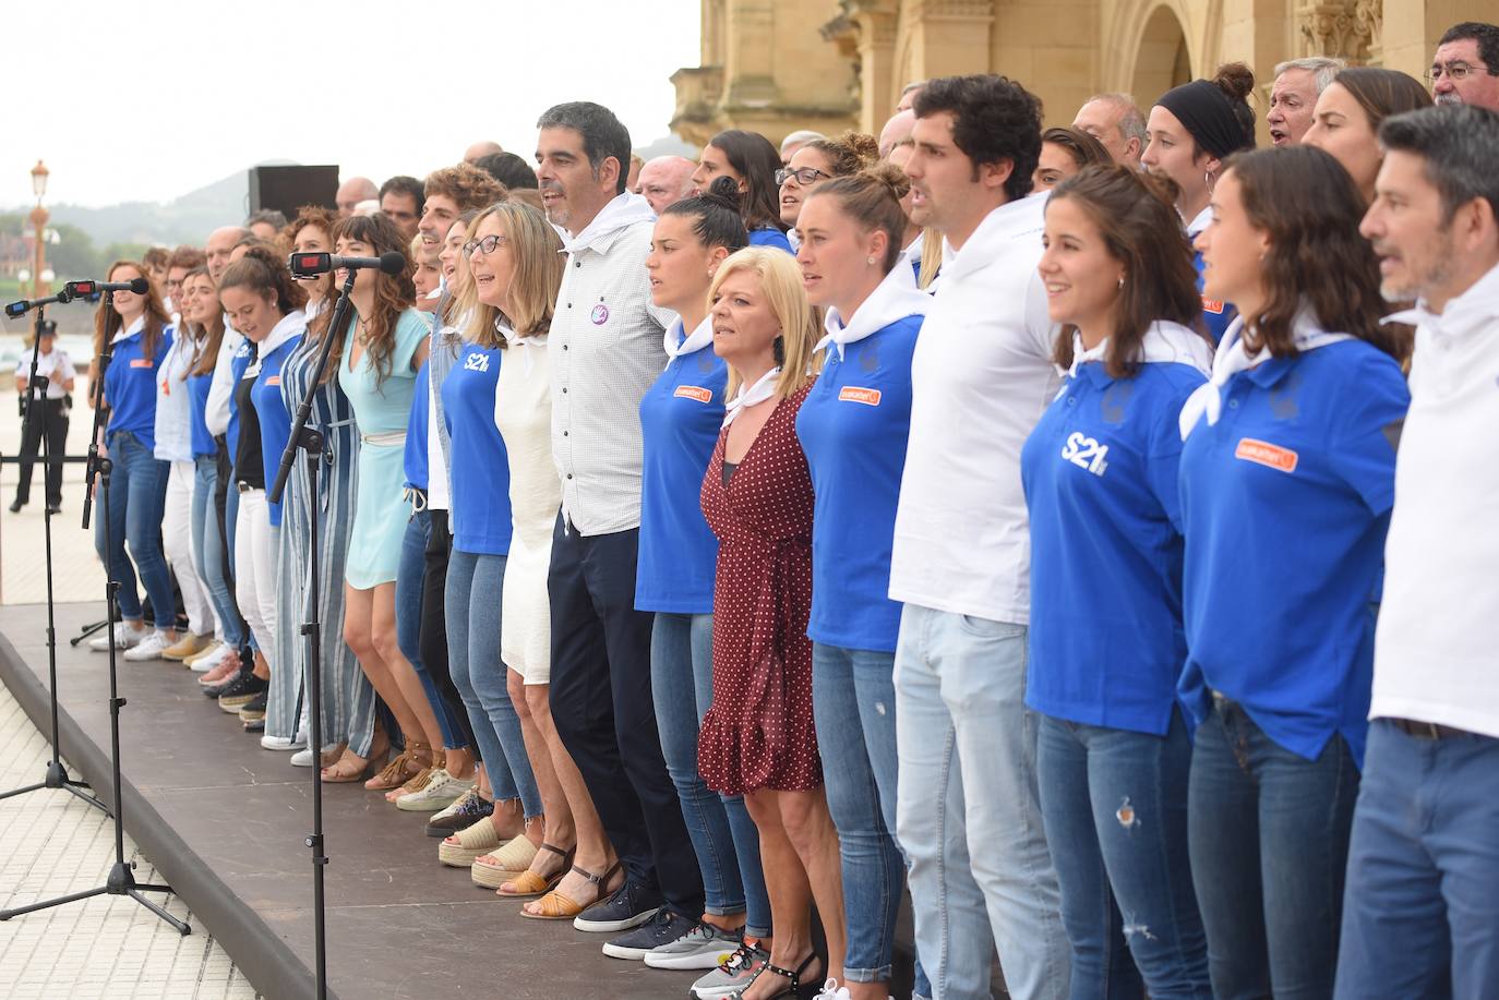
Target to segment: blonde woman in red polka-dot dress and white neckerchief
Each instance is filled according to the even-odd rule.
[[[744,1000],[809,996],[842,973],[842,874],[812,724],[812,480],[796,438],[821,333],[796,262],[748,247],[709,289],[714,351],[729,364],[724,430],[703,477],[718,537],[714,703],[697,741],[715,792],[742,793],[760,831],[775,939]],[[794,844],[794,846],[793,846]],[[812,951],[811,904],[827,933]]]

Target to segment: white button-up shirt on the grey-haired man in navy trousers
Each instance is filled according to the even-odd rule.
[[[651,304],[654,219],[645,198],[619,195],[565,241],[547,337],[552,457],[564,522],[582,535],[640,526],[640,399],[666,367],[672,319]]]

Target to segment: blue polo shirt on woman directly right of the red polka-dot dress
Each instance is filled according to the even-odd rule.
[[[905,316],[844,348],[796,414],[812,474],[812,612],[806,636],[826,646],[895,651],[901,606],[890,600],[890,547],[911,429],[911,354],[922,316]]]

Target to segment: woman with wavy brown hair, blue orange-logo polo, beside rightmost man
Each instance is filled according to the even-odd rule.
[[[1363,214],[1297,145],[1231,159],[1198,237],[1207,294],[1240,307],[1180,420],[1187,840],[1219,997],[1333,994],[1411,403]]]

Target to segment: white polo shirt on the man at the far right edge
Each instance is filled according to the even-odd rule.
[[[1499,738],[1499,267],[1418,322],[1370,718]]]

